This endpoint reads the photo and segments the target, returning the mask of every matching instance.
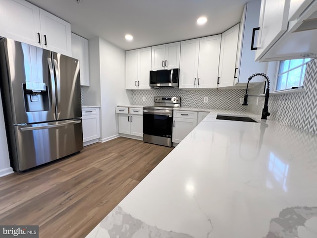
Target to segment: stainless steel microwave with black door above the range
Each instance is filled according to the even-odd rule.
[[[150,87],[178,88],[179,68],[150,71]]]

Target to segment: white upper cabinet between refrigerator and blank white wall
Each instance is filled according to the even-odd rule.
[[[88,40],[71,33],[72,57],[79,60],[80,85],[89,86],[89,53]]]

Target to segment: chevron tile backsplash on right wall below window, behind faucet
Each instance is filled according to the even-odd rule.
[[[317,134],[317,59],[307,63],[303,88],[305,92],[271,94],[268,99],[268,119],[276,120],[308,132]],[[249,90],[250,95],[259,95],[264,91],[264,84]],[[262,114],[264,97],[248,99],[247,112]]]

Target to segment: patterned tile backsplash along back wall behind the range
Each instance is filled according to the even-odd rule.
[[[180,96],[181,107],[199,109],[222,109],[244,112],[245,106],[239,104],[243,98],[244,89],[178,89],[161,88],[149,90],[133,90],[132,104],[151,106],[155,96]],[[143,101],[145,97],[145,101]],[[208,97],[208,103],[204,103],[204,97]]]

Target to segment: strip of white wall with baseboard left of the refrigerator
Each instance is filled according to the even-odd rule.
[[[0,94],[0,177],[13,173],[10,167],[8,144],[6,140],[3,108]]]

